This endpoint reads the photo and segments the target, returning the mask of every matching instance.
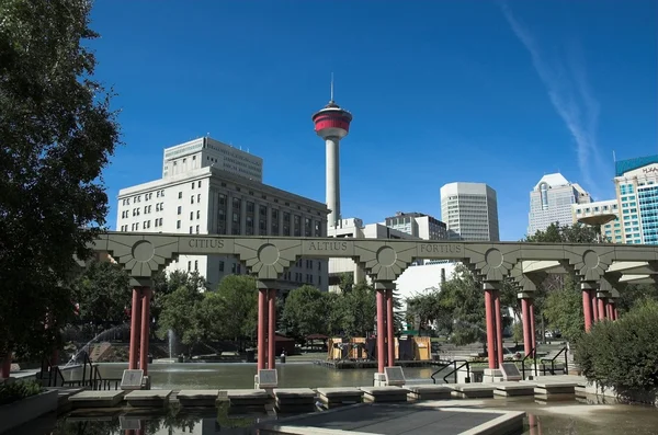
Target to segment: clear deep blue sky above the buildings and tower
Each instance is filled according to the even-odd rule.
[[[613,159],[657,138],[653,0],[98,0],[97,77],[123,140],[104,179],[161,175],[162,148],[209,135],[264,159],[264,182],[325,199],[311,114],[354,119],[341,144],[343,217],[440,217],[439,188],[498,192],[500,236],[527,226],[529,192],[560,171],[613,197]]]

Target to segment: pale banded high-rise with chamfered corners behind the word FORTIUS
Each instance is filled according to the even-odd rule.
[[[441,220],[450,240],[499,241],[496,191],[485,183],[441,187]]]

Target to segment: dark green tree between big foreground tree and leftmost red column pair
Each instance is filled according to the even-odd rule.
[[[132,304],[131,277],[118,264],[93,261],[71,284],[79,320],[95,325],[123,323]]]

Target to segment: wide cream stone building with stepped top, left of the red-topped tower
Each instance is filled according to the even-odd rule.
[[[118,193],[120,231],[327,237],[327,206],[262,180],[262,159],[211,138],[164,150],[162,179]],[[180,255],[168,271],[198,271],[211,288],[246,271],[235,257]],[[328,286],[328,262],[302,259],[281,289]]]

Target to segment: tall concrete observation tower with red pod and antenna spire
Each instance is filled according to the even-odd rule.
[[[337,227],[340,222],[340,139],[350,133],[352,114],[333,102],[333,83],[331,100],[324,108],[313,115],[316,134],[325,139],[327,147],[327,217],[328,227]]]

